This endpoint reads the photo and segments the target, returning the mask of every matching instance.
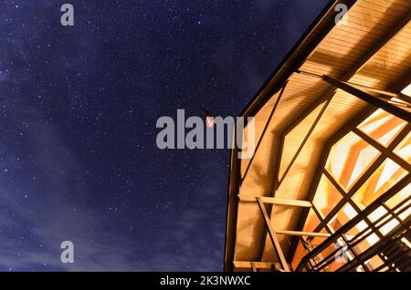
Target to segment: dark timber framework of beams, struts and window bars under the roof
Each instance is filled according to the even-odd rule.
[[[326,223],[330,222],[330,219],[325,219],[324,221],[321,221],[321,224],[313,231],[313,232],[303,232],[302,227],[305,223],[305,220],[308,216],[308,212],[310,209],[312,209],[314,212],[319,214],[318,210],[312,205],[312,200],[314,197],[314,194],[316,192],[317,186],[319,184],[321,174],[329,174],[327,171],[324,170],[324,165],[325,162],[327,161],[327,158],[329,156],[332,144],[334,144],[337,140],[341,139],[343,135],[345,135],[348,131],[353,130],[356,134],[360,135],[364,140],[367,140],[369,143],[373,144],[374,147],[376,147],[378,150],[385,152],[385,156],[388,155],[389,158],[393,159],[395,162],[401,164],[404,168],[406,168],[407,171],[411,171],[410,165],[399,158],[397,155],[393,153],[392,150],[395,149],[395,146],[398,145],[398,143],[406,137],[406,134],[411,130],[411,125],[409,122],[411,121],[411,98],[399,93],[399,92],[392,92],[392,91],[386,91],[383,89],[379,88],[371,88],[371,87],[365,87],[360,84],[355,84],[355,83],[350,83],[348,81],[344,80],[339,80],[336,78],[332,78],[330,76],[326,75],[318,75],[318,74],[313,74],[311,72],[306,72],[306,71],[300,71],[297,70],[296,73],[299,74],[304,74],[307,76],[310,76],[312,78],[320,78],[324,82],[327,82],[329,85],[331,85],[330,91],[326,96],[328,98],[321,99],[322,102],[325,102],[324,106],[321,108],[321,111],[317,118],[314,120],[314,122],[311,125],[311,128],[308,130],[306,136],[302,140],[300,147],[294,154],[293,158],[290,161],[290,164],[284,171],[283,175],[279,179],[279,161],[277,162],[277,168],[275,169],[275,178],[273,181],[273,189],[274,192],[276,192],[279,188],[279,185],[281,184],[282,181],[286,178],[288,172],[292,168],[294,162],[297,160],[297,158],[300,155],[300,151],[303,149],[304,145],[307,143],[307,141],[311,137],[311,133],[314,131],[316,128],[317,124],[321,120],[321,116],[325,112],[325,110],[328,108],[329,104],[332,101],[332,97],[336,93],[336,89],[341,89],[342,91],[352,95],[353,97],[360,98],[367,102],[369,104],[368,108],[364,110],[364,114],[362,114],[362,119],[355,119],[352,122],[348,123],[344,128],[342,128],[341,131],[337,132],[331,140],[327,142],[325,145],[325,150],[324,154],[321,157],[321,161],[319,162],[319,170],[316,172],[316,176],[314,177],[314,181],[311,186],[311,191],[309,192],[309,201],[297,201],[297,200],[284,200],[284,199],[278,199],[275,197],[245,197],[245,196],[240,196],[238,195],[238,199],[240,202],[257,202],[259,210],[261,212],[261,216],[264,220],[264,233],[263,237],[265,237],[267,234],[269,235],[269,240],[271,241],[274,252],[276,254],[276,258],[279,261],[279,263],[268,263],[268,262],[249,262],[249,261],[234,261],[234,265],[236,268],[245,268],[245,269],[251,269],[252,271],[259,271],[259,270],[271,270],[271,271],[284,271],[284,272],[290,272],[290,271],[323,271],[326,269],[328,264],[331,264],[334,261],[335,254],[338,252],[338,249],[335,249],[335,251],[332,252],[332,254],[327,254],[327,255],[321,255],[321,250],[324,250],[330,245],[334,245],[335,243],[344,243],[347,245],[348,249],[347,251],[353,255],[353,259],[350,261],[350,263],[345,264],[339,271],[351,271],[355,269],[358,266],[362,266],[362,269],[364,271],[370,271],[370,269],[367,267],[364,262],[366,260],[369,260],[370,257],[374,255],[378,255],[385,261],[383,265],[378,267],[376,270],[380,270],[381,268],[384,268],[385,266],[391,267],[391,268],[401,268],[402,270],[411,270],[411,264],[410,264],[410,259],[409,256],[411,254],[409,247],[406,248],[404,244],[397,242],[401,241],[401,238],[407,237],[408,240],[410,239],[410,232],[409,232],[409,227],[410,227],[410,220],[402,221],[398,218],[398,215],[401,212],[404,212],[405,209],[402,209],[401,212],[395,212],[395,209],[389,209],[387,208],[386,204],[384,203],[389,197],[393,196],[396,192],[400,191],[401,189],[405,188],[406,185],[409,184],[410,182],[410,174],[406,175],[404,179],[402,179],[400,182],[398,182],[395,187],[393,187],[391,190],[388,192],[385,192],[381,196],[380,199],[378,199],[376,202],[373,202],[371,205],[369,205],[364,211],[361,211],[361,209],[358,208],[357,205],[355,205],[350,198],[353,196],[353,194],[358,190],[359,186],[364,184],[364,182],[369,178],[372,173],[380,166],[384,159],[384,156],[380,157],[377,159],[373,166],[371,166],[361,177],[360,181],[353,187],[353,189],[348,192],[348,194],[344,194],[344,198],[342,199],[339,204],[335,206],[335,208],[332,210],[332,213],[335,214],[339,212],[342,209],[342,205],[344,202],[350,202],[350,204],[359,212],[359,214],[350,221],[349,223],[346,223],[342,229],[337,231],[336,233],[319,233],[321,226],[324,226]],[[404,79],[402,79],[399,82],[398,88],[395,88],[395,90],[398,90],[400,88],[404,88],[406,84],[409,84],[411,82],[411,79],[408,76],[406,76]],[[269,114],[269,119],[267,123],[264,126],[264,129],[262,130],[261,136],[259,137],[257,146],[256,146],[256,152],[254,156],[256,156],[256,153],[258,151],[258,147],[261,143],[261,140],[264,138],[267,129],[269,127],[269,123],[271,119],[274,116],[274,113],[276,109],[279,106],[279,101],[281,97],[283,96],[283,93],[287,87],[287,82],[280,88],[279,90],[279,96],[276,99],[273,109],[271,110]],[[316,106],[321,105],[321,103],[316,103]],[[281,134],[280,136],[280,144],[281,147],[284,144],[285,136],[287,133],[290,132],[291,129],[295,128],[295,126],[306,116],[310,114],[310,112],[315,109],[316,107],[312,107],[309,110],[307,110],[302,117],[299,119],[296,119],[296,121],[285,131]],[[392,115],[404,119],[408,122],[408,125],[406,125],[406,128],[401,131],[401,133],[395,138],[395,140],[390,144],[388,148],[385,148],[384,146],[380,145],[378,142],[375,140],[371,139],[368,137],[364,132],[362,132],[359,129],[356,129],[355,126],[357,126],[363,119],[364,117],[368,117],[371,115],[375,109],[384,109],[385,111],[391,113]],[[248,163],[248,166],[243,174],[243,176],[240,177],[240,183],[242,183],[248,176],[248,170],[251,167],[253,161],[254,161],[254,156],[251,158],[251,160]],[[280,159],[281,156],[281,151],[279,150],[279,155],[278,155],[278,160]],[[332,180],[332,179],[331,179]],[[338,184],[334,184],[336,188],[342,192],[341,187]],[[408,201],[410,198],[408,198],[406,201]],[[405,202],[406,202],[405,201]],[[269,209],[267,209],[266,204],[269,205]],[[272,212],[272,206],[273,205],[282,205],[282,206],[290,206],[290,207],[300,207],[304,211],[302,213],[302,218],[300,219],[300,224],[299,224],[299,231],[284,231],[284,230],[276,230],[272,226],[270,222],[270,216]],[[382,217],[380,220],[376,222],[371,222],[368,218],[367,215],[375,209],[377,206],[383,206],[388,213],[384,217]],[[389,215],[387,219],[385,219],[384,223],[380,223],[384,218],[386,218]],[[328,216],[332,216],[332,214],[329,214]],[[395,219],[396,221],[399,221],[399,225],[396,227],[395,232],[390,234],[390,235],[382,235],[379,233],[377,230],[380,229],[382,226],[384,226],[386,223],[389,223]],[[356,236],[354,236],[352,239],[348,239],[347,237],[349,236],[347,233],[353,229],[353,226],[357,223],[360,223],[361,221],[364,221],[367,224],[367,227],[364,229],[363,232],[358,233]],[[376,233],[379,237],[379,242],[371,247],[368,251],[362,254],[358,254],[357,251],[355,250],[355,245],[358,243],[361,243],[364,241],[366,237],[368,237],[370,234]],[[294,240],[291,243],[290,246],[290,251],[289,255],[286,257],[283,251],[281,250],[281,247],[279,245],[279,239],[278,235],[290,235],[295,237]],[[292,259],[293,255],[295,254],[297,244],[302,240],[304,244],[307,244],[307,242],[310,242],[312,237],[325,237],[326,240],[318,245],[317,247],[314,247],[313,249],[307,249],[306,251],[309,252],[301,261],[299,266],[296,269],[291,269],[290,268],[290,260]],[[264,253],[264,247],[265,247],[265,238],[262,239],[262,244],[261,244],[261,253],[260,257],[262,258],[262,254]],[[394,244],[394,246],[393,246]],[[312,250],[312,251],[310,251]],[[391,253],[391,252],[392,253]],[[388,256],[385,255],[386,253],[391,253]],[[394,254],[393,254],[394,253]],[[320,257],[320,258],[319,258]],[[407,257],[407,259],[403,259],[404,257]],[[402,259],[402,260],[401,260]],[[401,263],[397,265],[398,263]],[[395,264],[395,266],[393,266]],[[375,271],[375,269],[373,270]]]

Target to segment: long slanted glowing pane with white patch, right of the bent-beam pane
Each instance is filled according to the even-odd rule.
[[[353,195],[353,201],[361,208],[366,208],[380,195],[389,190],[397,181],[406,175],[406,170],[387,159],[374,171],[373,175],[365,181],[363,186]]]

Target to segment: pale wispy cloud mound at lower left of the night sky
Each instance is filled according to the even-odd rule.
[[[0,175],[0,270],[41,269],[41,265],[54,270],[132,270],[133,243],[138,241],[107,236],[99,216],[84,206],[90,194],[76,154],[34,109],[18,111],[9,124],[22,119],[30,124],[25,138],[31,148],[19,156],[31,158],[26,164],[33,167],[27,165],[23,171],[12,167]],[[41,180],[33,182],[37,188],[25,190],[14,182],[23,178]],[[75,264],[60,262],[59,245],[66,240],[75,244]]]

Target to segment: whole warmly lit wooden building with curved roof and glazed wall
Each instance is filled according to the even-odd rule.
[[[411,1],[332,1],[243,110],[226,271],[411,270],[410,20]]]

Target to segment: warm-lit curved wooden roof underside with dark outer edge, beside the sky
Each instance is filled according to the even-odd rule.
[[[349,8],[348,18],[335,25],[339,4]],[[260,142],[251,160],[238,160],[235,150],[231,154],[227,271],[241,270],[250,261],[279,262],[255,198],[310,202],[323,152],[333,137],[375,109],[321,76],[370,94],[400,92],[411,82],[410,19],[409,1],[332,1],[243,110],[241,116],[255,117]],[[275,205],[269,215],[275,229],[299,230],[306,211]],[[293,239],[279,234],[289,260],[295,251]]]

